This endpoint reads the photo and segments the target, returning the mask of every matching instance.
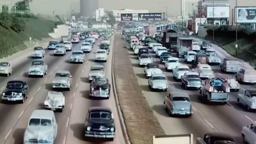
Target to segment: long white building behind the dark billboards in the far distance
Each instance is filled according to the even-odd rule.
[[[138,20],[138,13],[148,13],[148,10],[129,10],[129,9],[124,9],[124,10],[113,10],[113,15],[116,19],[116,21],[121,21],[121,14],[122,13],[127,13],[127,14],[132,14],[132,20]]]

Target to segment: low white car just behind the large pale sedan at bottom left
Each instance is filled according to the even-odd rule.
[[[65,97],[61,92],[48,92],[44,107],[52,111],[63,111],[65,106]]]

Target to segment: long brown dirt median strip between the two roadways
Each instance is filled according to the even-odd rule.
[[[153,143],[153,135],[164,135],[134,75],[129,53],[121,35],[115,35],[114,71],[116,90],[132,144]]]

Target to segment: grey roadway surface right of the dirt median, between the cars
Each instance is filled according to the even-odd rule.
[[[125,40],[122,40],[121,35],[118,35],[118,39],[120,39],[118,40],[118,47],[125,47],[127,45]],[[220,47],[214,45],[213,48],[216,49],[218,55],[222,58],[225,56],[225,54],[221,54],[223,51],[218,51],[221,49]],[[159,58],[155,57],[152,50],[150,52],[154,57],[154,62],[159,63]],[[231,92],[229,94],[228,104],[205,104],[198,100],[199,90],[184,90],[180,82],[173,80],[172,72],[166,72],[164,65],[159,64],[164,74],[168,77],[168,92],[186,92],[189,94],[193,104],[193,115],[190,118],[170,117],[163,106],[164,97],[168,95],[168,92],[150,92],[148,79],[145,77],[143,67],[138,65],[137,56],[134,56],[133,52],[129,49],[127,49],[127,54],[130,56],[131,65],[140,84],[143,96],[147,99],[150,108],[154,111],[154,115],[166,134],[192,133],[195,140],[196,137],[202,137],[207,132],[224,132],[233,136],[236,143],[242,143],[241,129],[245,125],[250,125],[256,119],[256,115],[253,112],[246,111],[243,106],[237,103],[237,94],[244,92],[246,89],[253,89],[255,85],[240,84],[239,92]],[[184,63],[184,59],[180,59],[180,61]],[[220,72],[220,66],[212,66],[212,70]],[[231,77],[232,74],[223,75]]]

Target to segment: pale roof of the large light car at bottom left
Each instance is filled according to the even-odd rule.
[[[53,111],[45,110],[45,109],[36,109],[31,114],[30,118],[45,118],[52,119],[52,115],[54,115]]]

